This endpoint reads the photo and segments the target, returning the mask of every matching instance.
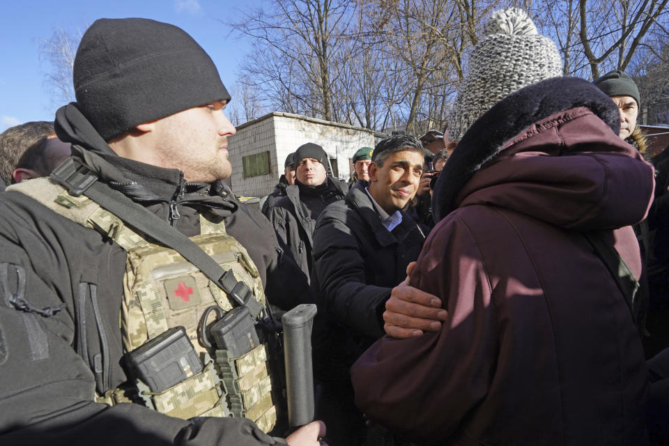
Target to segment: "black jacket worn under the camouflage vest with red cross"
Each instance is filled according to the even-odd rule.
[[[73,153],[101,180],[187,236],[199,233],[199,210],[212,211],[247,248],[270,302],[290,308],[312,300],[258,210],[220,184],[185,183],[178,170],[114,155],[72,107],[56,115],[59,138],[82,146]],[[137,404],[94,402],[96,385],[102,393],[126,380],[119,327],[124,270],[123,249],[97,231],[20,192],[0,194],[0,444],[284,444],[245,419],[185,421]],[[96,352],[100,364],[90,360]],[[97,383],[91,368],[100,371]]]

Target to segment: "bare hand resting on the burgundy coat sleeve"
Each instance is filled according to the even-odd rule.
[[[416,262],[406,267],[410,275]],[[385,302],[383,312],[383,330],[392,336],[408,338],[420,336],[423,332],[436,332],[446,320],[447,312],[441,307],[442,302],[436,295],[431,295],[404,282],[395,286],[390,299]]]

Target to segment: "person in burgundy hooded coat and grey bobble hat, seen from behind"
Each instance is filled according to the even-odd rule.
[[[511,26],[493,33],[528,28],[517,10],[505,13]],[[502,44],[493,48],[503,55]],[[475,48],[470,64],[480,55]],[[456,100],[461,112],[475,71]],[[383,337],[351,369],[357,406],[416,443],[647,442],[633,315],[585,235],[615,247],[638,279],[630,225],[652,201],[653,169],[617,136],[608,96],[549,74],[519,90],[502,85],[489,107],[449,121],[459,144],[436,185],[440,221],[408,278],[443,300],[447,320],[438,332]]]

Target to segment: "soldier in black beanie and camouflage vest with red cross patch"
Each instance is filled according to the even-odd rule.
[[[248,273],[253,289],[243,307],[260,307],[254,317],[267,314],[265,295],[286,310],[313,300],[291,256],[276,248],[266,218],[222,183],[231,173],[227,142],[236,130],[223,114],[231,98],[213,61],[176,26],[101,19],[82,37],[74,86],[77,102],[61,107],[55,121],[72,157],[53,178],[13,185],[0,197],[0,288],[8,296],[0,310],[0,444],[286,444],[266,433],[280,412],[272,385],[260,387],[271,371],[267,380],[256,374],[270,347],[226,362],[259,395],[241,401],[238,382],[222,383],[196,331],[208,302],[227,302],[219,289],[226,286],[208,281],[198,262],[180,261],[188,271],[178,266],[183,246],[164,246],[183,245],[183,236],[214,253],[218,248],[203,240],[235,245],[236,252],[223,247],[219,254],[243,259],[235,275]],[[167,255],[148,265],[154,249]],[[132,270],[131,261],[141,268]],[[124,353],[174,329],[184,330],[180,345],[190,350],[176,342],[159,349],[162,360],[151,367],[165,367],[164,379],[177,369],[178,380],[148,394]],[[254,377],[240,364],[251,364]],[[312,422],[286,440],[318,445],[324,433],[321,422]]]

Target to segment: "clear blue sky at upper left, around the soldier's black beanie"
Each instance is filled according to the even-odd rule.
[[[0,6],[0,132],[26,121],[53,121],[56,109],[40,62],[42,39],[54,30],[84,30],[100,17],[145,17],[180,26],[202,45],[231,89],[247,42],[229,36],[220,22],[262,0],[10,0]]]

